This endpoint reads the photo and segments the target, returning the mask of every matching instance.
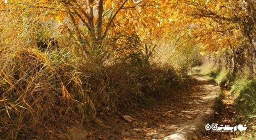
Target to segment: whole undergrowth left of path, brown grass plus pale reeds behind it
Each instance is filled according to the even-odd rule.
[[[31,33],[22,28],[26,20],[20,22],[1,25],[0,139],[47,139],[45,129],[56,122],[79,120],[88,126],[102,109],[153,107],[188,81],[189,57],[195,51],[181,52],[176,61],[186,63],[174,67],[170,58],[161,64],[153,61],[156,51],[150,44],[143,48],[135,34],[113,36],[95,50],[77,42],[71,31],[59,35],[40,25]],[[14,26],[20,31],[12,30]],[[52,49],[42,51],[32,40],[51,36],[60,49],[48,44]]]

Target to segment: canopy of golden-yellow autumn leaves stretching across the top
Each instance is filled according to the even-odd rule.
[[[87,0],[8,1],[9,8],[19,6],[21,13],[37,15],[42,20],[58,20],[61,24],[65,17],[70,17],[76,25],[83,23],[81,28],[86,27],[93,38],[100,37],[95,36],[99,26],[100,31],[109,29],[109,35],[136,33],[141,40],[168,32],[189,32],[193,42],[202,44],[209,51],[239,43],[234,41],[243,35],[239,29],[243,24],[239,22],[246,16],[253,17],[246,13],[243,1],[105,0],[102,4],[101,7],[98,1]],[[4,1],[0,8],[6,10]],[[99,13],[100,8],[102,13]],[[99,14],[102,19],[99,19]]]

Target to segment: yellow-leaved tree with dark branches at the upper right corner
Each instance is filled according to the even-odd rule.
[[[233,72],[243,68],[244,63],[255,72],[255,2],[195,0],[187,3],[198,25],[194,35],[197,41],[203,41],[205,51],[228,52]]]

